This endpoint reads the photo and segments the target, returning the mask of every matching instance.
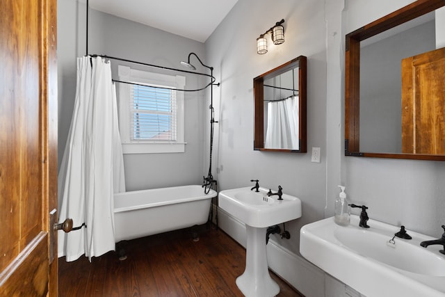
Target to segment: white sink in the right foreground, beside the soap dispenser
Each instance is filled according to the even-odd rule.
[[[358,227],[351,216],[348,227],[326,218],[301,228],[300,252],[323,271],[368,297],[444,297],[445,256],[442,246],[420,246],[430,236],[407,230],[412,239],[394,234],[399,226],[369,220]]]

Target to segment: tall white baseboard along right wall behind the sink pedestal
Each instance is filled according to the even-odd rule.
[[[218,226],[245,247],[245,225],[218,208]],[[325,273],[294,252],[270,239],[267,245],[269,268],[301,294],[325,296]]]

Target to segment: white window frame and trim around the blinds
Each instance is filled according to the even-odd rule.
[[[168,75],[155,72],[147,72],[132,69],[129,66],[118,65],[118,77],[120,81],[141,83],[152,86],[165,86],[183,90],[186,85],[186,77],[180,75]],[[184,141],[184,92],[176,93],[176,141],[142,141],[131,140],[131,115],[129,109],[130,100],[129,83],[119,85],[119,130],[124,154],[156,154],[185,152]]]

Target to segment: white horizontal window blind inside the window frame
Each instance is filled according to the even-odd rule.
[[[132,141],[177,141],[176,93],[158,87],[131,86]]]

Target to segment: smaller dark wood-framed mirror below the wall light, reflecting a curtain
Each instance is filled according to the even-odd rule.
[[[307,152],[306,72],[298,56],[253,79],[254,150]]]

